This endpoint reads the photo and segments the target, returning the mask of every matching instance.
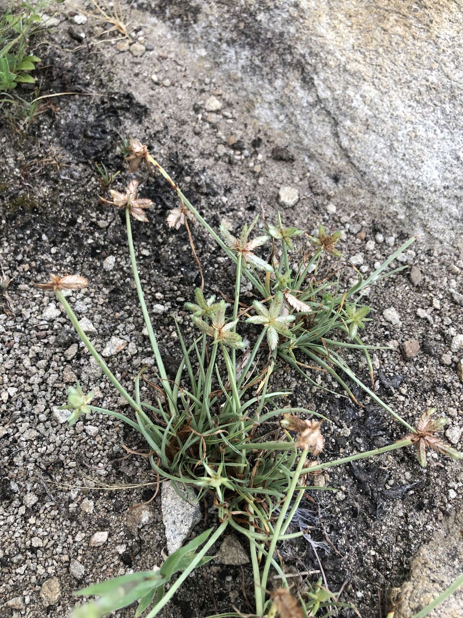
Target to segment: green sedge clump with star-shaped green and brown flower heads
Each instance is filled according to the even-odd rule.
[[[143,158],[142,153],[138,159],[141,162]],[[156,162],[152,161],[148,160],[147,167],[157,167]],[[149,401],[141,399],[140,381],[145,370],[136,376],[133,392],[128,392],[81,328],[63,293],[65,290],[88,287],[87,279],[79,275],[61,277],[52,274],[48,282],[36,286],[54,292],[86,349],[115,391],[130,406],[130,413],[123,414],[94,405],[93,393],[85,394],[80,384],[70,389],[68,404],[64,408],[72,411],[70,424],[83,415],[97,413],[117,418],[138,431],[148,443],[151,450],[149,464],[160,480],[170,481],[184,499],[183,492],[190,501],[198,502],[203,498],[209,501],[217,516],[217,526],[174,552],[159,570],[124,575],[80,591],[80,595],[98,595],[99,599],[90,605],[77,607],[75,618],[98,618],[134,601],[139,601],[136,616],[144,612],[148,612],[146,618],[156,616],[192,570],[210,559],[214,544],[228,530],[241,535],[248,544],[254,581],[255,612],[252,615],[272,617],[278,614],[287,618],[290,614],[284,613],[285,606],[297,608],[297,613],[291,610],[294,616],[315,616],[319,609],[325,607],[331,607],[334,611],[336,606],[342,604],[320,583],[307,589],[299,598],[288,596],[284,565],[276,551],[282,541],[305,533],[304,530],[288,532],[288,527],[307,489],[304,481],[306,475],[412,444],[419,449],[430,446],[451,457],[460,457],[454,449],[444,448],[442,442],[435,440],[434,434],[442,428],[443,421],[432,423],[430,412],[418,430],[407,425],[411,433],[395,444],[322,463],[311,459],[323,451],[322,422],[327,419],[311,410],[284,405],[291,394],[288,391],[272,391],[270,377],[278,358],[293,358],[291,353],[298,339],[304,335],[310,336],[311,331],[304,321],[307,311],[302,306],[302,311],[291,312],[289,307],[294,310],[291,297],[296,299],[296,304],[306,303],[312,310],[309,313],[322,313],[322,310],[319,308],[320,302],[317,305],[315,300],[316,294],[304,294],[302,298],[297,295],[301,273],[293,278],[295,286],[283,287],[276,275],[279,267],[258,259],[254,252],[269,235],[253,237],[252,231],[257,221],[249,227],[245,226],[239,239],[223,230],[224,240],[217,235],[236,261],[234,301],[230,307],[223,300],[216,302],[214,297],[206,299],[202,290],[196,289],[195,302],[186,303],[186,308],[193,314],[191,320],[198,329],[197,336],[193,341],[186,341],[176,323],[182,358],[175,379],[168,379],[141,287],[131,232],[131,217],[140,222],[148,221],[146,213],[151,202],[138,197],[136,180],[130,182],[125,192],[111,190],[110,193],[114,200],[111,203],[125,210],[133,279],[159,379]],[[190,212],[198,218],[196,212]],[[285,243],[290,235],[294,235],[291,228],[290,232],[287,229],[280,232]],[[249,273],[248,265],[252,267],[252,273]],[[260,272],[265,273],[264,281],[259,279],[257,273]],[[273,295],[268,294],[272,273],[278,288]],[[240,319],[240,281],[243,274],[255,279],[256,286],[262,286],[263,295],[273,296],[270,303],[256,301],[252,309],[248,308],[249,318],[246,321]],[[285,274],[278,274],[285,278]],[[285,285],[290,278],[286,277]],[[322,301],[321,307],[327,305],[331,307],[330,311],[337,307],[334,312],[337,315],[330,318],[336,328],[345,328],[347,332],[348,320],[356,321],[361,328],[364,315],[356,316],[357,309],[353,314],[341,313],[343,303],[336,304],[335,298],[336,294],[330,300]],[[259,329],[254,337],[250,328]],[[248,329],[252,339],[248,350],[244,350],[244,329]],[[309,344],[310,341],[306,345]],[[240,359],[237,358],[239,354],[242,354]],[[317,362],[321,362],[320,357],[315,356]],[[267,590],[272,570],[280,576],[281,589]],[[174,574],[178,574],[175,581],[172,580]],[[170,583],[168,590],[167,583]],[[216,618],[219,616],[226,618],[240,614],[228,612]]]

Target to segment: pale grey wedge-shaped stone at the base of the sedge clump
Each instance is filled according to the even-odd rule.
[[[162,483],[161,509],[167,551],[172,554],[181,547],[191,529],[201,521],[201,509],[198,504],[183,500],[170,481]]]

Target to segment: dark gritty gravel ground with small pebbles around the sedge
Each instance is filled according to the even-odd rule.
[[[151,499],[155,485],[149,483],[156,478],[146,460],[128,454],[122,444],[143,449],[143,443],[119,421],[97,415],[67,428],[65,415],[56,410],[76,378],[85,389],[93,389],[101,407],[124,410],[124,402],[91,362],[59,303],[32,286],[54,269],[87,276],[88,289],[73,292],[68,300],[79,318],[93,326],[87,328],[97,350],[102,352],[111,337],[123,342],[108,363],[128,389],[136,371],[152,365],[123,219],[96,197],[99,184],[92,163],[103,161],[112,170],[122,163],[117,132],[148,143],[214,227],[226,221],[237,231],[261,205],[269,219],[279,208],[285,222],[309,233],[320,222],[330,231],[340,229],[343,256],[365,274],[414,227],[412,222],[397,227],[381,212],[372,216],[349,203],[334,204],[333,194],[307,175],[304,152],[292,145],[291,136],[250,116],[233,83],[214,79],[207,57],[192,63],[162,30],[150,51],[156,31],[144,26],[143,14],[135,14],[147,30],[140,57],[132,49],[120,51],[122,43],[120,49],[108,43],[64,51],[79,46],[68,34],[69,25],[84,30],[87,40],[99,31],[91,20],[77,26],[70,9],[62,9],[61,15],[59,26],[46,36],[61,49],[40,50],[43,92],[80,90],[104,96],[52,99],[53,107],[44,108],[27,135],[8,127],[0,133],[0,256],[13,278],[9,292],[15,309],[15,317],[0,315],[0,591],[6,616],[68,616],[72,591],[162,561],[159,495],[143,508],[131,508]],[[133,224],[137,260],[172,373],[180,352],[173,317],[190,337],[193,330],[183,303],[198,285],[198,270],[186,232],[165,226],[165,214],[175,206],[169,187],[146,172],[138,177],[140,195],[151,198],[154,206],[149,224]],[[294,206],[281,203],[280,187],[298,192]],[[229,297],[234,277],[229,261],[199,226],[193,235],[207,291],[220,290]],[[302,242],[296,243],[296,251],[301,248]],[[418,283],[416,271],[406,269],[378,282],[369,295],[376,313],[364,341],[395,349],[373,355],[377,392],[412,424],[428,407],[437,407],[450,420],[446,441],[461,449],[461,248],[418,239],[404,264],[419,269]],[[346,281],[350,273],[346,266]],[[246,283],[242,292],[251,300]],[[401,349],[409,340],[419,344],[411,358],[407,350],[416,344]],[[361,360],[345,358],[366,381]],[[365,408],[311,389],[287,371],[276,373],[273,384],[293,389],[293,405],[317,410],[333,421],[325,428],[323,460],[403,436],[401,426],[361,392],[355,391]],[[148,387],[144,396],[152,397]],[[316,511],[314,539],[326,543],[326,533],[332,543],[317,550],[330,588],[339,590],[346,582],[343,600],[355,603],[364,618],[379,616],[382,605],[384,616],[388,590],[401,585],[417,549],[461,507],[461,465],[431,453],[427,470],[422,470],[407,449],[323,476],[335,493],[314,492],[318,506],[307,506]],[[200,523],[196,531],[203,527]],[[95,547],[90,540],[98,532],[108,536]],[[294,564],[319,569],[307,544],[288,544],[282,555],[288,570]],[[436,561],[444,559],[436,556]],[[212,562],[194,572],[160,616],[199,618],[211,614],[214,606],[227,611],[232,604],[248,611],[241,585],[244,577],[245,589],[251,590],[249,565],[243,573]],[[134,613],[129,608],[115,616]]]

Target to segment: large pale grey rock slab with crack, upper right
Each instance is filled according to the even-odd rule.
[[[408,11],[402,0],[360,0],[353,12],[339,0],[273,0],[265,11],[258,0],[246,11],[214,2],[214,19],[209,4],[194,23],[167,27],[201,42],[218,83],[233,75],[250,121],[291,136],[321,190],[425,235],[461,232],[459,2]],[[259,62],[243,54],[244,32]]]

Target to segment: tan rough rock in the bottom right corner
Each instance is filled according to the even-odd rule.
[[[440,595],[461,574],[463,564],[463,510],[444,518],[429,543],[424,543],[412,560],[409,581],[402,588],[393,588],[391,604],[400,592],[403,601],[396,607],[394,618],[412,618]],[[443,551],[445,559],[443,560]],[[463,588],[459,588],[431,612],[432,618],[461,618]]]

